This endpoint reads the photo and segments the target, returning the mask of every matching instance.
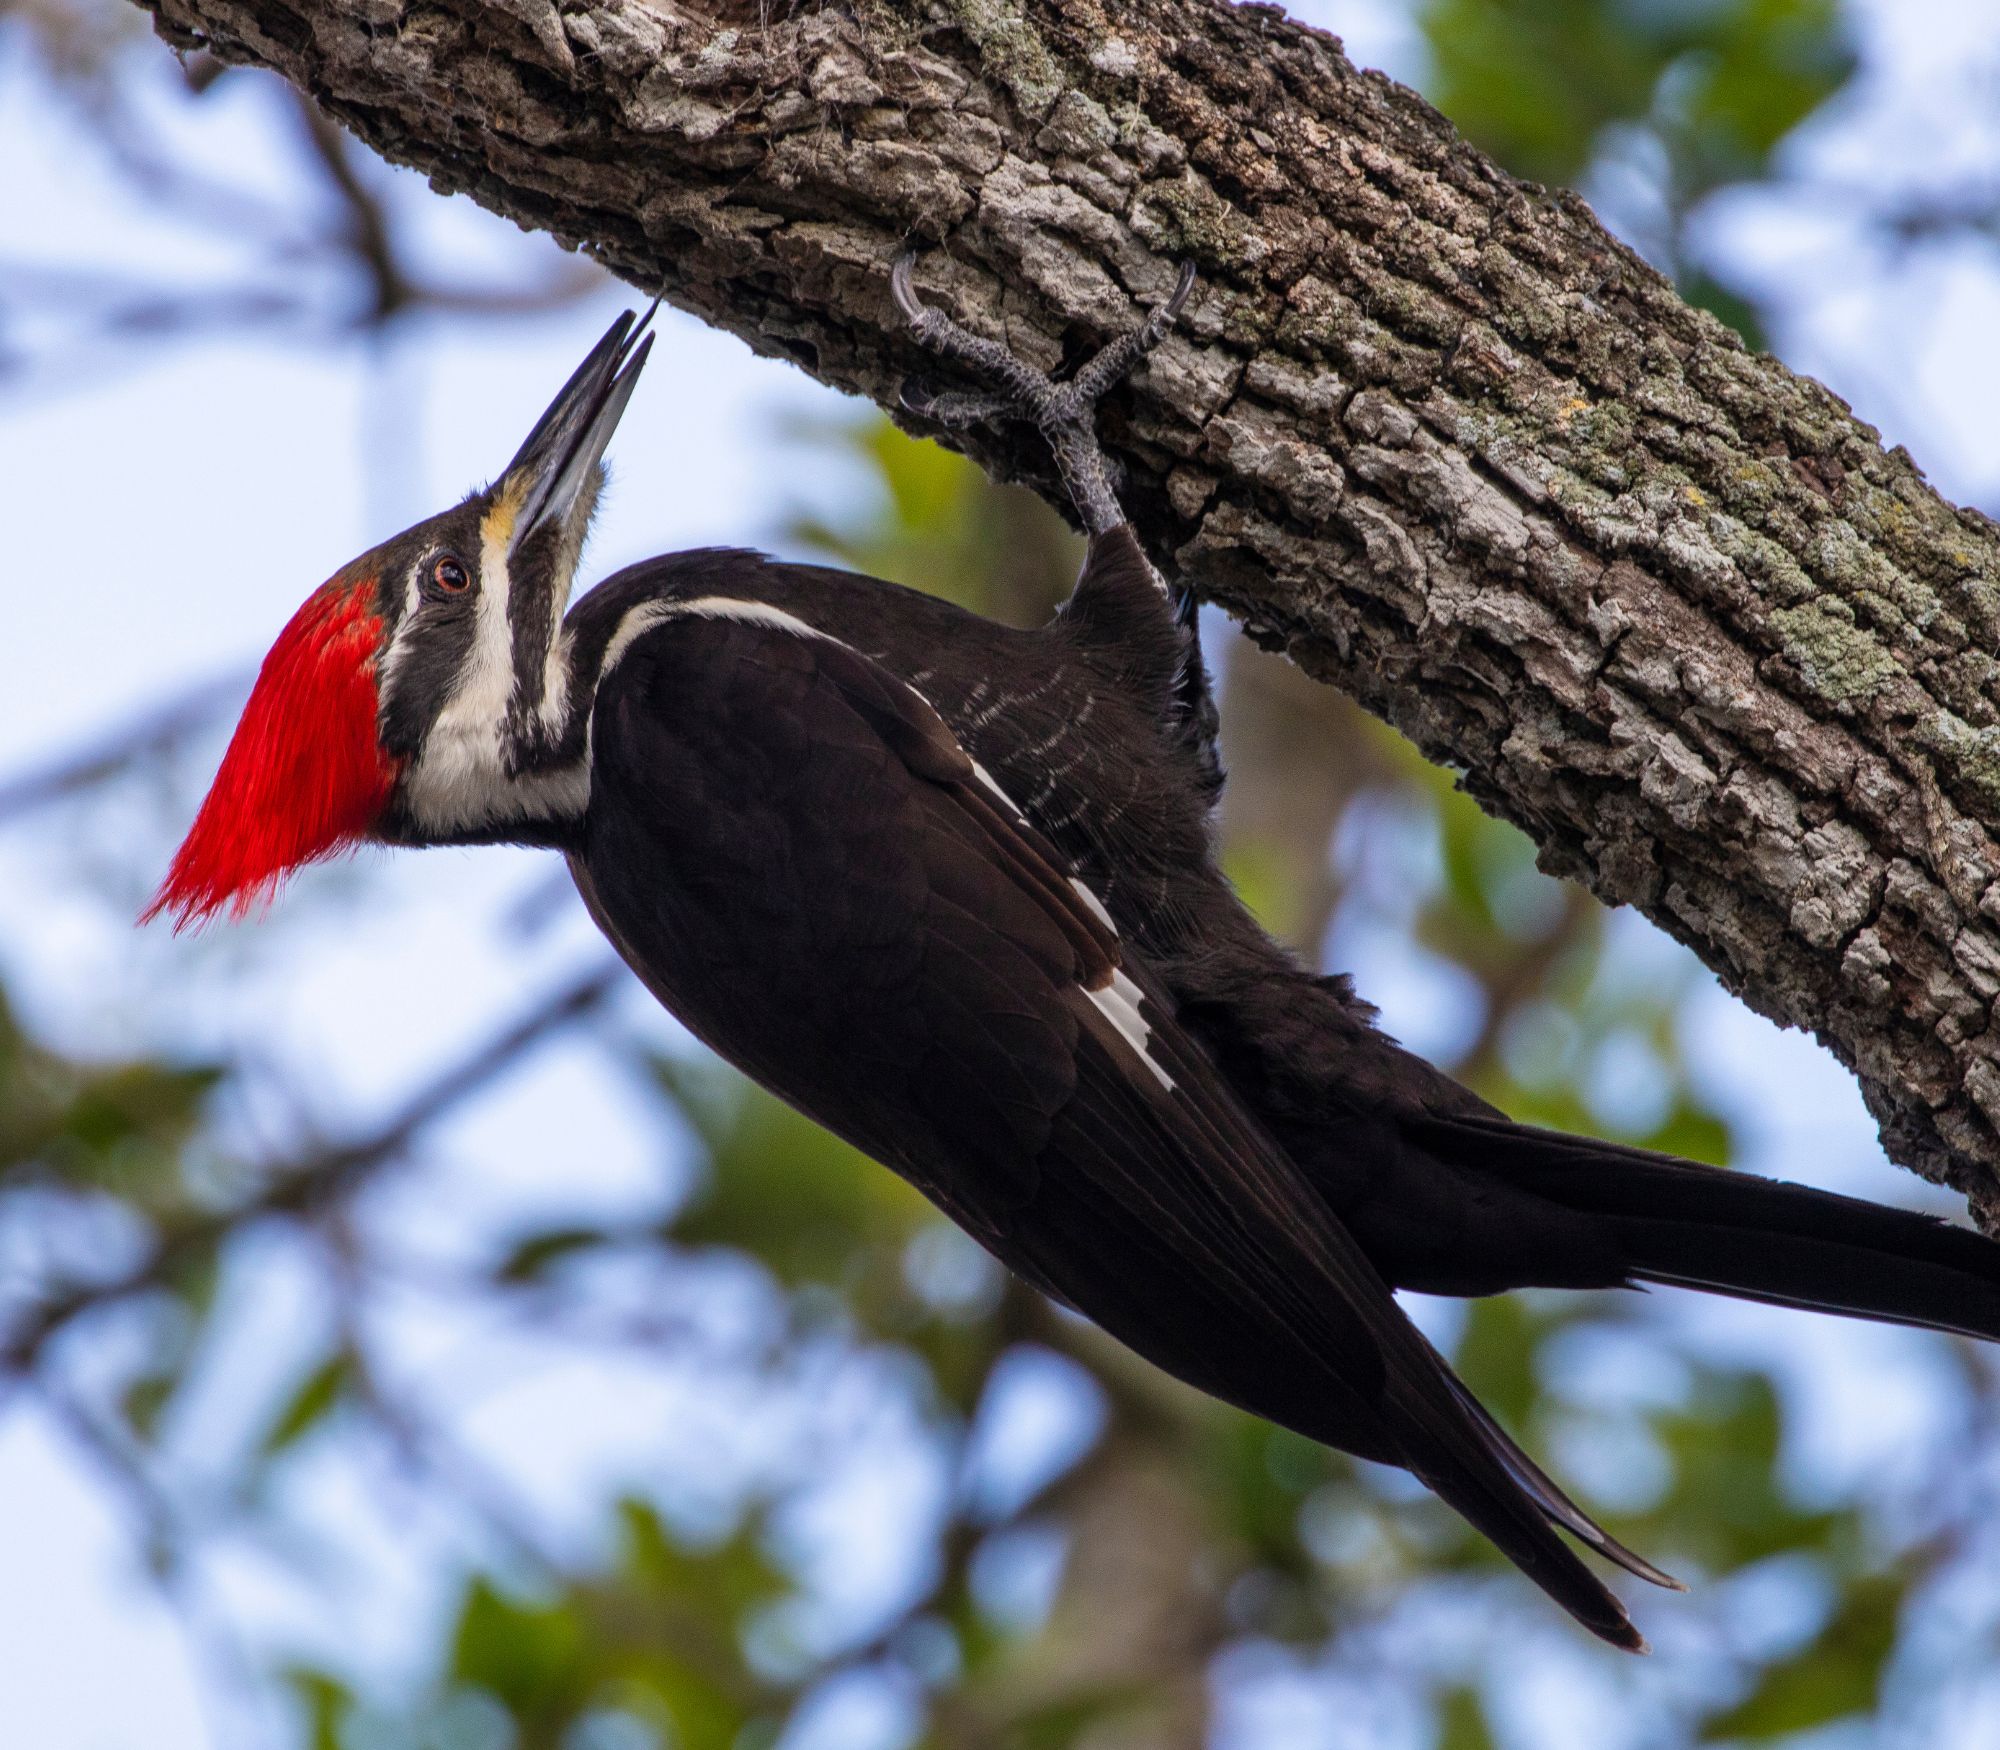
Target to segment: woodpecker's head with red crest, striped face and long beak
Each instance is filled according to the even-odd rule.
[[[650,312],[648,312],[650,316]],[[562,610],[652,338],[620,316],[484,492],[322,584],[278,634],[146,918],[236,916],[368,838],[536,836],[588,796]]]

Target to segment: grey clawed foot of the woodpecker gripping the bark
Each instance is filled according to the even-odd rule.
[[[1104,346],[1064,384],[1050,382],[1044,372],[1016,358],[998,340],[982,340],[960,328],[942,310],[924,304],[910,284],[914,262],[914,256],[902,256],[890,270],[888,284],[902,314],[910,318],[910,332],[918,346],[964,366],[992,388],[970,394],[932,394],[906,382],[902,404],[912,414],[922,414],[942,426],[974,426],[998,418],[1028,420],[1048,440],[1062,484],[1068,486],[1070,502],[1082,516],[1084,528],[1090,534],[1108,534],[1118,528],[1124,522],[1124,512],[1118,508],[1118,496],[1110,486],[1110,466],[1098,444],[1096,406],[1134,364],[1166,338],[1194,290],[1194,262],[1182,264],[1172,294],[1158,310],[1130,334]]]

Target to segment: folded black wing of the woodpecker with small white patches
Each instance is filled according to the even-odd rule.
[[[604,680],[578,884],[722,1056],[1216,1396],[1422,1476],[1586,1626],[1654,1578],[1470,1402],[1060,854],[910,686],[754,602]]]

